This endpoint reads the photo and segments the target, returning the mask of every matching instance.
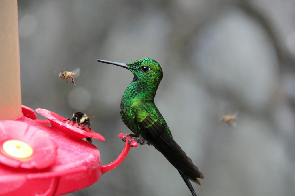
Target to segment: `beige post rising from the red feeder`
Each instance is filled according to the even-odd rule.
[[[0,0],[0,120],[22,114],[17,0]]]

